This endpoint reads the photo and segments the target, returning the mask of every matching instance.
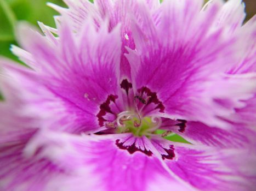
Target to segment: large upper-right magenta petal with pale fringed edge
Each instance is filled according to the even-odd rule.
[[[223,76],[236,63],[238,40],[223,28],[214,30],[218,3],[204,11],[201,7],[201,1],[164,1],[158,11],[161,19],[155,20],[141,4],[143,24],[133,27],[136,50],[127,58],[133,85],[151,89],[165,108],[152,111],[155,115],[221,127],[225,124],[216,116],[230,114],[241,106],[240,100],[252,96],[255,77]],[[226,99],[230,108],[215,99]]]

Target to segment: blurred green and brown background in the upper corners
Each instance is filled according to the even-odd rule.
[[[14,35],[16,22],[26,20],[37,26],[37,21],[41,21],[45,25],[55,26],[53,15],[58,13],[47,7],[47,2],[65,7],[61,0],[0,0],[0,56],[17,60],[9,50],[10,44],[16,44]],[[256,0],[244,0],[244,2],[248,20],[255,14]]]

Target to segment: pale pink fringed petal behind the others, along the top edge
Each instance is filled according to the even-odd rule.
[[[101,25],[101,21],[103,21],[105,17],[109,17],[110,29],[112,29],[118,22],[129,20],[127,14],[129,11],[136,11],[134,5],[137,3],[136,0],[95,0],[94,3],[83,0],[64,0],[64,2],[69,7],[68,9],[59,7],[53,3],[48,3],[48,5],[58,11],[61,15],[68,15],[71,20],[73,30],[76,32],[81,31],[81,26],[83,25],[84,20],[88,17],[93,17],[97,26]],[[143,2],[145,2],[146,6],[151,10],[156,10],[160,7],[160,1],[157,0],[143,0]],[[128,27],[126,24],[128,23],[124,22],[124,28]]]

